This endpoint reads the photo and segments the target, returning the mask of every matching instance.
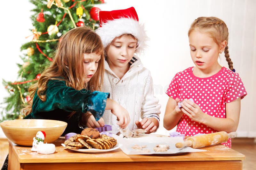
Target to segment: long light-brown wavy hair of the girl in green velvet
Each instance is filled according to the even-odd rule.
[[[100,54],[98,69],[88,82],[84,78],[84,53]],[[76,90],[87,89],[90,91],[100,91],[103,74],[104,50],[100,36],[86,26],[69,30],[61,36],[51,65],[44,70],[38,82],[29,87],[28,92],[30,93],[31,100],[22,109],[22,113],[24,115],[31,113],[35,93],[37,93],[42,101],[46,101],[47,96],[45,91],[49,80],[64,80],[68,87]],[[72,112],[69,117],[74,113]]]

